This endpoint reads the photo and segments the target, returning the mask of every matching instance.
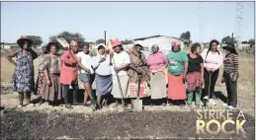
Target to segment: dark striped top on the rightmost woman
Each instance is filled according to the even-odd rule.
[[[223,63],[224,73],[227,74],[233,72],[234,74],[238,75],[239,60],[236,54],[226,54]]]

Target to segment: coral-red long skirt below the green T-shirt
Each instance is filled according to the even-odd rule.
[[[186,95],[186,86],[183,83],[183,75],[172,75],[168,73],[168,94],[167,98],[171,100],[185,100],[187,99]]]

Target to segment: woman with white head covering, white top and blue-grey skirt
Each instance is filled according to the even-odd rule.
[[[105,45],[98,45],[99,54],[96,56],[97,65],[95,67],[96,73],[96,96],[97,105],[101,108],[102,96],[107,96],[112,90],[112,71],[110,65],[110,55],[105,51]],[[105,105],[108,105],[108,99],[105,100]]]

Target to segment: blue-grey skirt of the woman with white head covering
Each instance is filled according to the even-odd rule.
[[[111,93],[112,90],[112,75],[98,75],[96,74],[96,95],[104,96]]]

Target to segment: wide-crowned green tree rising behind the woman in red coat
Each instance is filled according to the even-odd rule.
[[[76,40],[78,42],[78,45],[81,46],[84,42],[85,42],[85,38],[83,37],[83,35],[81,35],[80,33],[69,33],[69,32],[62,32],[58,35],[54,35],[54,36],[50,36],[49,37],[49,41],[52,41],[52,42],[57,42],[58,45],[60,46],[60,48],[63,48],[59,42],[56,40],[56,37],[63,37],[65,38],[65,40],[70,43],[71,40]]]

